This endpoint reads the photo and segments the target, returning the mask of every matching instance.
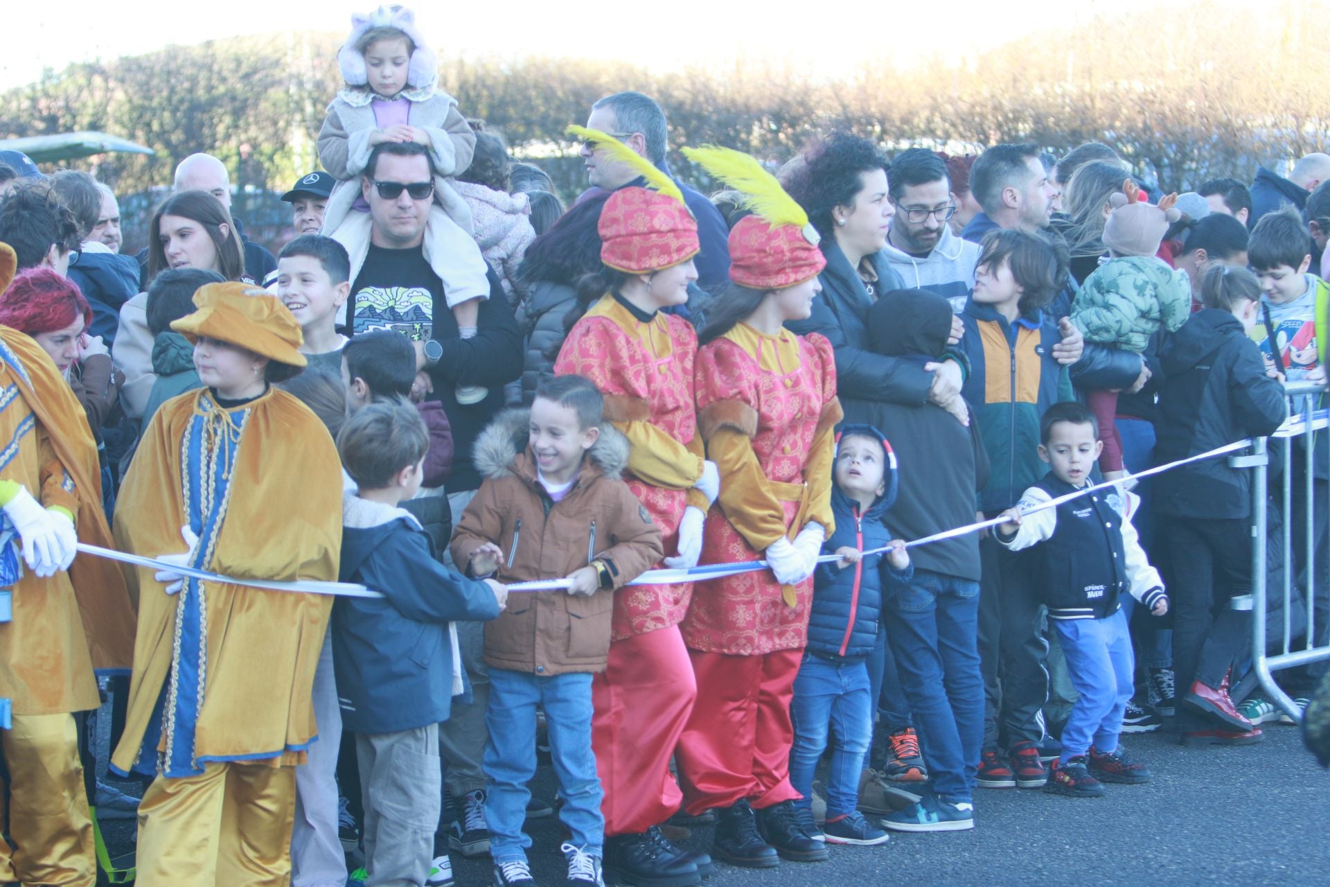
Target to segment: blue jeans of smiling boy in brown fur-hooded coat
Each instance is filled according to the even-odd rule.
[[[525,672],[489,669],[489,705],[485,726],[485,822],[489,855],[495,863],[527,858],[531,838],[521,830],[527,819],[527,787],[536,775],[536,705],[545,709],[549,754],[559,777],[564,807],[559,818],[572,832],[572,843],[592,856],[601,855],[605,818],[591,750],[591,674],[541,677]]]

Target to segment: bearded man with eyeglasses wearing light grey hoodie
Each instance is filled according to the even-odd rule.
[[[947,166],[924,148],[896,154],[887,169],[887,195],[896,207],[882,250],[906,286],[931,290],[960,311],[975,289],[979,245],[956,237]]]

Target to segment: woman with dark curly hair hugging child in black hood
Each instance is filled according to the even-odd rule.
[[[866,422],[867,404],[886,400],[928,402],[960,411],[960,358],[919,364],[868,350],[867,315],[880,294],[904,282],[882,255],[895,209],[887,199],[887,162],[866,138],[835,133],[786,170],[785,188],[807,211],[822,235],[826,269],[813,315],[793,320],[793,332],[818,332],[835,351],[835,370],[846,422]],[[960,338],[959,320],[951,343]],[[862,406],[861,406],[862,404]]]

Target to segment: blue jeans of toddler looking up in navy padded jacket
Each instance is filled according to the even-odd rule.
[[[813,799],[813,771],[827,747],[827,727],[835,734],[835,750],[827,771],[827,817],[843,817],[859,806],[859,774],[872,738],[872,696],[864,662],[837,662],[803,654],[794,678],[794,745],[790,746],[790,785]]]

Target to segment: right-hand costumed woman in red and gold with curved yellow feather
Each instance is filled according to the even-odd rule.
[[[826,844],[794,807],[802,795],[790,783],[790,702],[807,645],[813,570],[834,527],[831,460],[842,414],[831,344],[785,324],[811,313],[826,259],[807,214],[755,160],[724,148],[685,153],[741,188],[739,202],[754,210],[730,231],[730,285],[717,295],[694,370],[698,428],[721,475],[704,560],[765,559],[770,569],[698,582],[693,592],[682,625],[697,676],[678,746],[684,809],[718,811],[714,852],[730,864],[822,862]]]

